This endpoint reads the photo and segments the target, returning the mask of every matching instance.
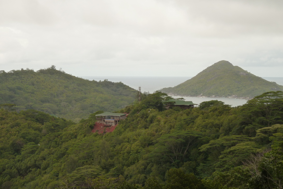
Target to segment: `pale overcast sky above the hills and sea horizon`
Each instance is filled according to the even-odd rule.
[[[195,76],[220,60],[283,77],[283,1],[0,0],[0,70]]]

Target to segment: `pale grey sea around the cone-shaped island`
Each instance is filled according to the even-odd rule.
[[[95,81],[103,81],[107,79],[112,82],[122,82],[136,90],[141,87],[142,92],[153,93],[165,87],[174,87],[192,77],[124,77],[124,76],[82,76],[81,78]],[[274,81],[279,85],[283,85],[283,77],[263,77],[267,81]],[[178,96],[172,96],[178,98]],[[210,98],[210,97],[183,97],[186,101],[192,101],[195,104],[200,104],[203,101],[219,100],[225,104],[236,107],[243,105],[247,100],[236,98]]]

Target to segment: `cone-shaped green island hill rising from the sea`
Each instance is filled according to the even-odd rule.
[[[204,69],[195,77],[160,91],[172,95],[249,99],[264,92],[278,90],[283,90],[283,86],[222,60]]]

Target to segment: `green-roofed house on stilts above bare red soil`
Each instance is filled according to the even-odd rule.
[[[97,114],[97,122],[103,124],[104,126],[114,126],[118,124],[120,120],[124,120],[127,114],[104,112],[102,114]]]

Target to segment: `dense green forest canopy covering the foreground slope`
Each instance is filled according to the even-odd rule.
[[[91,132],[96,112],[75,124],[0,109],[1,188],[282,188],[282,91],[186,110],[166,97],[142,94],[105,134]]]

